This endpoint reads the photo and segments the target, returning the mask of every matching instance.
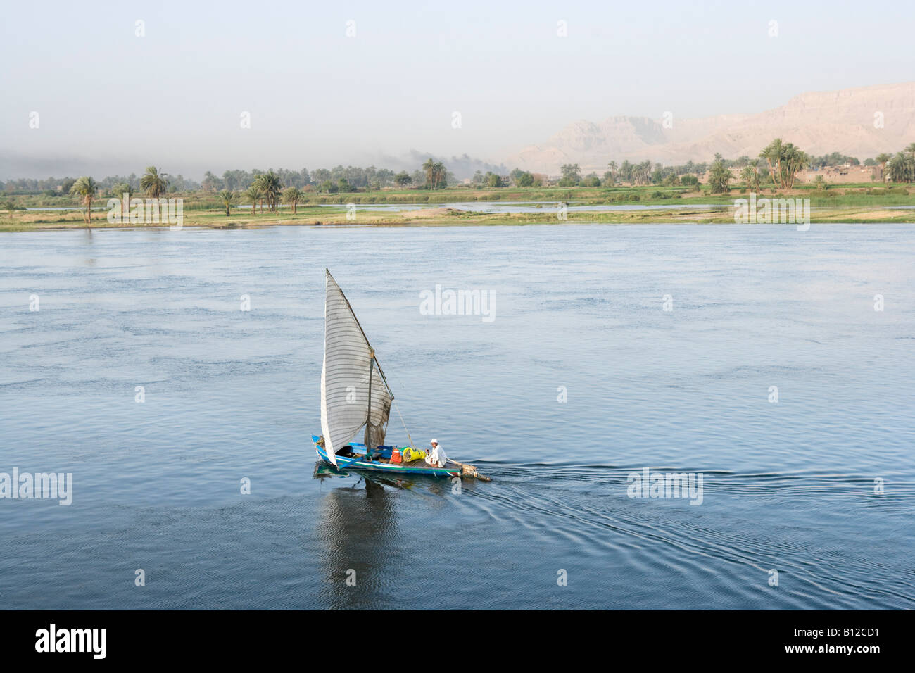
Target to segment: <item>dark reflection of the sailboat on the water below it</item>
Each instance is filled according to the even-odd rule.
[[[399,496],[406,490],[442,496],[451,480],[338,470],[324,461],[316,463],[313,476],[330,486],[320,498],[317,528],[326,607],[394,606],[394,597],[403,591],[403,570],[416,562],[397,517],[411,506],[422,507],[412,497]]]

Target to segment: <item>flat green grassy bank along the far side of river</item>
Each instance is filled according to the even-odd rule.
[[[733,223],[733,205],[736,199],[748,198],[748,190],[733,188],[728,194],[712,195],[704,190],[683,187],[663,188],[612,187],[612,188],[542,188],[470,190],[451,187],[447,190],[384,190],[353,192],[347,194],[310,193],[299,201],[297,213],[288,207],[277,212],[252,212],[251,208],[233,208],[226,217],[225,209],[212,193],[169,194],[183,199],[184,226],[211,228],[275,226],[282,224],[308,225],[487,225],[487,224],[544,224],[544,223]],[[810,198],[814,212],[813,223],[910,223],[913,211],[887,210],[888,206],[915,206],[915,187],[873,184],[833,186],[829,190],[814,190],[802,185],[794,190],[772,193],[763,190],[758,198]],[[10,197],[17,208],[76,207],[79,202],[70,196],[44,194],[14,195]],[[109,224],[106,221],[107,195],[93,202],[92,228],[165,226],[166,224]],[[480,201],[539,201],[544,212],[483,213],[464,212],[442,207],[454,202]],[[568,212],[567,220],[559,220],[555,204],[570,205],[663,205],[667,208],[651,211]],[[347,203],[357,206],[371,204],[418,204],[425,206],[413,212],[358,211],[354,220],[347,218]],[[688,208],[690,203],[708,204],[717,208]],[[339,207],[326,207],[338,205]],[[721,206],[726,207],[722,209]],[[23,211],[0,213],[0,231],[34,231],[43,229],[70,229],[85,226],[81,211]]]

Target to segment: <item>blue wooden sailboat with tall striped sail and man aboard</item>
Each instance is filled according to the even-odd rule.
[[[328,269],[325,274],[322,434],[311,436],[321,460],[339,469],[490,481],[473,465],[450,459],[429,464],[409,432],[410,446],[384,444],[393,393],[350,301]],[[361,429],[362,442],[352,441]]]

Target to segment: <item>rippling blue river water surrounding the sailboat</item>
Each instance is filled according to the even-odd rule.
[[[913,608],[913,255],[885,224],[0,234],[0,472],[73,475],[0,498],[0,604]],[[325,266],[414,441],[491,483],[316,475]],[[701,498],[631,497],[645,469]]]

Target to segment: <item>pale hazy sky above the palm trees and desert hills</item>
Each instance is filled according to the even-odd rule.
[[[912,2],[9,0],[0,179],[501,162],[577,119],[911,81],[913,26]]]

